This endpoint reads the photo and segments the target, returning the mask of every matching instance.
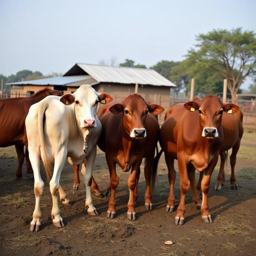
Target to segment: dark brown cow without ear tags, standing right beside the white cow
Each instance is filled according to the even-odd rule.
[[[152,209],[150,183],[154,185],[156,173],[152,173],[154,152],[159,137],[159,124],[154,115],[164,109],[156,104],[147,104],[138,94],[125,100],[111,102],[99,109],[98,117],[102,123],[99,148],[105,152],[110,173],[111,198],[108,204],[108,218],[116,216],[116,187],[119,177],[116,175],[116,163],[124,172],[131,169],[128,177],[130,198],[127,217],[136,219],[135,199],[140,175],[140,164],[145,157],[145,206]]]

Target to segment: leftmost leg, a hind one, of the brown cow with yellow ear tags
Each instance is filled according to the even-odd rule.
[[[169,180],[169,197],[167,199],[166,205],[166,212],[173,212],[174,211],[174,202],[175,202],[175,195],[174,195],[174,185],[176,179],[176,172],[174,169],[174,158],[168,153],[164,154],[166,165],[168,168],[168,180]]]

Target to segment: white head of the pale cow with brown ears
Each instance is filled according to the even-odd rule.
[[[89,84],[81,85],[76,92],[65,94],[60,101],[65,105],[75,104],[76,119],[80,128],[95,128],[98,103],[111,102],[113,98],[107,93],[97,93]]]

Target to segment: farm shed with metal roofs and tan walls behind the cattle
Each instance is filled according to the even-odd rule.
[[[109,93],[114,99],[134,93],[137,84],[137,93],[163,108],[169,108],[170,89],[176,87],[152,69],[80,63],[75,64],[61,77],[10,83],[12,95],[32,94],[44,87],[60,90],[64,94],[72,93],[81,84],[90,84],[99,93]]]

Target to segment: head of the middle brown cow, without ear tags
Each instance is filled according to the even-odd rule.
[[[142,96],[133,94],[128,96],[121,104],[117,103],[109,108],[113,114],[123,113],[123,127],[131,138],[144,138],[147,136],[144,128],[148,112],[157,115],[164,109],[156,104],[147,104]]]

